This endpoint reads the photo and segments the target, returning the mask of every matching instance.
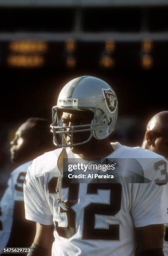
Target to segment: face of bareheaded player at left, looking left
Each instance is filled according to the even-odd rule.
[[[36,150],[36,139],[31,134],[32,124],[23,123],[15,133],[15,137],[10,141],[11,160],[14,163],[24,163],[31,160],[33,152]]]

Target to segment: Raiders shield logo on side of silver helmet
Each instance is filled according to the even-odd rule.
[[[111,89],[102,89],[108,110],[112,113],[117,106],[117,97]]]

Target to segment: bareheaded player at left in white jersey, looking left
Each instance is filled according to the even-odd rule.
[[[29,118],[10,142],[11,160],[20,164],[11,174],[8,187],[0,200],[0,253],[3,247],[31,245],[36,228],[25,220],[23,182],[31,160],[53,149],[48,121]]]

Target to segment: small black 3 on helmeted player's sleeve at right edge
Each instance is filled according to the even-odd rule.
[[[160,169],[160,166],[164,166],[163,169]],[[155,179],[155,183],[159,186],[164,185],[168,182],[168,173],[166,169],[166,162],[160,160],[154,164],[155,171],[160,171],[160,174],[163,175],[163,179]]]

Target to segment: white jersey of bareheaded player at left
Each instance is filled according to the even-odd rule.
[[[0,253],[10,238],[15,201],[23,201],[23,182],[31,161],[18,166],[8,180],[8,187],[0,200]]]

